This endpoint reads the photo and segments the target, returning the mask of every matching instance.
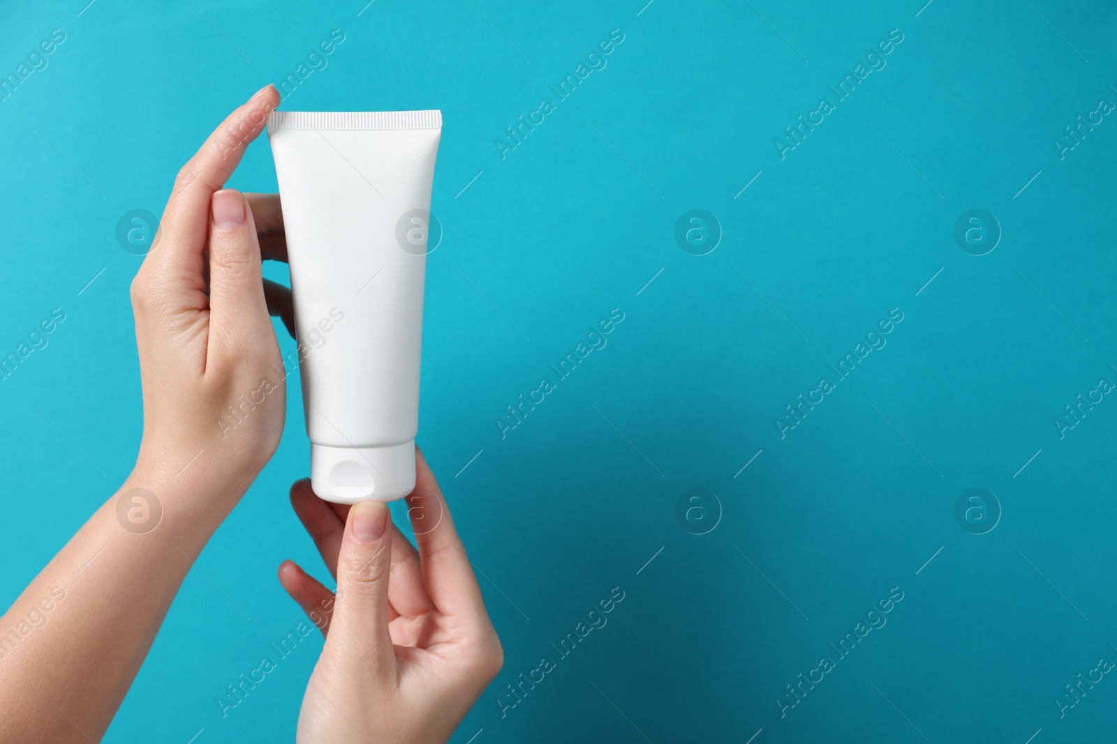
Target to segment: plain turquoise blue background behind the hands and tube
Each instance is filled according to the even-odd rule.
[[[192,2],[15,3],[0,26],[4,75],[67,35],[0,104],[0,350],[67,313],[0,383],[6,601],[134,463],[140,259],[117,220],[159,214],[217,123],[340,28],[284,108],[445,117],[419,441],[506,654],[456,742],[1111,736],[1110,675],[1063,718],[1053,699],[1117,659],[1117,402],[1061,439],[1052,423],[1117,381],[1117,120],[1062,161],[1052,144],[1117,103],[1111,4]],[[887,67],[781,160],[773,138],[896,28]],[[612,29],[608,66],[502,161],[494,138]],[[262,138],[230,186],[275,190]],[[695,207],[724,231],[704,257],[674,238]],[[975,207],[1003,230],[983,257],[953,239]],[[613,308],[608,346],[502,439],[505,406]],[[781,439],[784,406],[891,308],[887,346]],[[302,619],[279,562],[324,574],[287,503],[308,472],[297,386],[288,406],[198,561],[212,583],[188,576],[105,741],[292,738],[316,637],[225,719],[214,703]],[[707,534],[676,520],[691,487],[719,501]],[[955,521],[970,487],[1003,510],[987,534]],[[609,624],[502,718],[505,686],[613,587]],[[781,718],[785,685],[894,587],[887,625]]]

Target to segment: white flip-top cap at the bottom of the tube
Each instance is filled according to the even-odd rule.
[[[388,447],[311,443],[311,487],[336,504],[393,501],[416,487],[414,439]]]

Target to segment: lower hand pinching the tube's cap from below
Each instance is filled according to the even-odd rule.
[[[418,552],[388,506],[290,500],[336,598],[285,561],[279,581],[326,634],[298,716],[299,742],[446,742],[504,663],[477,579],[435,476],[417,453],[407,497]]]

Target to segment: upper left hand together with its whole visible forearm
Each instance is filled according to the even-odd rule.
[[[132,283],[136,467],[0,618],[4,744],[101,741],[183,577],[279,442],[285,375],[265,296],[281,312],[290,298],[260,278],[261,247],[286,254],[279,200],[222,190],[278,103],[271,86],[252,96],[175,181]]]

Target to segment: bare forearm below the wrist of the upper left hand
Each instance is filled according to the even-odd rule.
[[[182,579],[239,495],[200,496],[197,486],[137,470],[0,618],[0,742],[104,735]]]

